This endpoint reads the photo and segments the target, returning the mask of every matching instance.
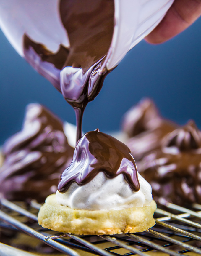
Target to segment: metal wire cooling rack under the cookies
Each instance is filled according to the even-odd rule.
[[[151,251],[168,255],[188,255],[188,252],[201,255],[201,205],[193,204],[191,209],[187,209],[164,200],[160,204],[167,210],[160,209],[160,206],[157,208],[154,215],[156,225],[149,231],[112,236],[75,236],[42,228],[37,224],[37,216],[33,211],[1,198],[0,226],[25,232],[59,252],[72,256],[82,255],[82,251],[104,256],[149,255]],[[40,205],[32,201],[30,208],[36,211]],[[19,216],[25,216],[35,224],[27,225],[18,220]]]

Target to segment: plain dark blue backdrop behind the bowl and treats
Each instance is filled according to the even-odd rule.
[[[105,79],[89,103],[83,131],[120,129],[121,117],[142,97],[151,97],[161,114],[179,124],[194,119],[201,127],[201,19],[174,39],[134,47]],[[0,31],[0,144],[17,132],[25,106],[38,102],[75,124],[73,108],[34,71]]]

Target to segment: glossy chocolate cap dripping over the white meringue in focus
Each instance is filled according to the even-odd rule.
[[[65,193],[73,182],[85,185],[99,172],[104,172],[108,178],[122,173],[133,191],[140,189],[137,167],[129,148],[96,129],[87,132],[77,143],[72,163],[62,173],[58,190]]]

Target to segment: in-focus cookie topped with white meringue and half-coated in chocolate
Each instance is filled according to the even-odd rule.
[[[151,187],[129,148],[99,129],[78,141],[56,195],[38,213],[44,228],[77,235],[145,231],[155,224]]]

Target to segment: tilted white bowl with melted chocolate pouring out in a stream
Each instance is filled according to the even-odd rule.
[[[78,140],[83,111],[107,73],[160,23],[173,1],[2,0],[0,27],[73,106]]]

